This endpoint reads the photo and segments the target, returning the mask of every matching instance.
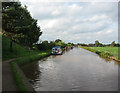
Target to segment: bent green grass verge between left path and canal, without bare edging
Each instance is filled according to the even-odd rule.
[[[47,51],[39,53],[39,54],[25,56],[25,57],[16,59],[10,63],[13,77],[14,77],[14,82],[17,86],[18,91],[28,91],[28,89],[26,88],[26,86],[24,84],[22,75],[20,74],[19,70],[16,69],[15,63],[17,63],[18,65],[24,65],[24,64],[27,64],[29,62],[33,62],[34,60],[38,60],[38,59],[41,59],[43,57],[49,56],[50,54],[51,54],[51,50],[47,50]]]

